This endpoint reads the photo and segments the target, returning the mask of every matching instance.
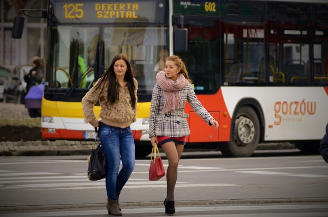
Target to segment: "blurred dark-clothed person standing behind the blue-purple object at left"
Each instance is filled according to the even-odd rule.
[[[39,56],[34,56],[31,59],[32,69],[27,73],[24,72],[24,80],[26,82],[26,94],[29,92],[31,86],[40,84],[44,77],[44,60]],[[41,109],[40,108],[28,108],[29,115],[32,118],[41,117]]]

